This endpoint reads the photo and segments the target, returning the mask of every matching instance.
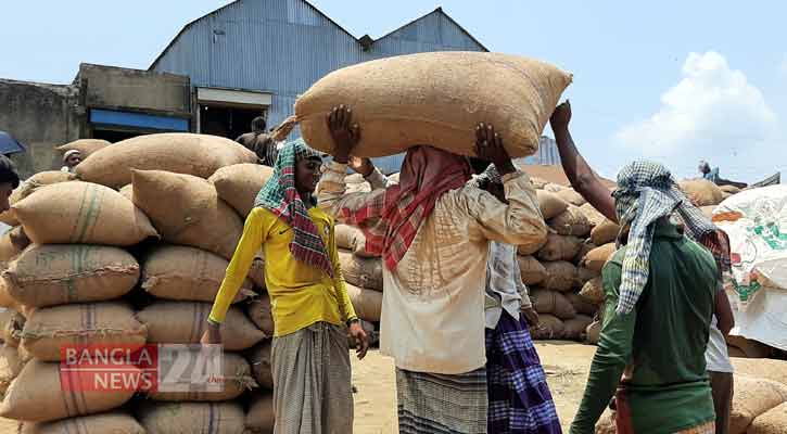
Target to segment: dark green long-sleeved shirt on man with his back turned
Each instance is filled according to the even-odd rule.
[[[601,336],[571,434],[594,433],[619,385],[618,417],[637,434],[674,433],[714,420],[705,350],[716,266],[675,226],[657,225],[648,283],[631,314],[615,314],[625,247],[604,267]]]

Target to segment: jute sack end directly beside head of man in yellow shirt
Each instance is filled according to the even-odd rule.
[[[254,208],[257,193],[274,175],[274,168],[261,164],[234,164],[216,170],[207,181],[218,192],[218,196],[245,217]]]

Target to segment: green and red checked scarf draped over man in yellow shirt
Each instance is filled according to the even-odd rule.
[[[326,245],[308,215],[308,207],[316,205],[315,200],[307,197],[307,207],[295,189],[295,163],[312,157],[321,159],[322,155],[309,148],[303,139],[282,146],[274,166],[274,175],[257,193],[254,206],[269,209],[294,230],[290,252],[295,259],[316,267],[332,278],[333,266]]]

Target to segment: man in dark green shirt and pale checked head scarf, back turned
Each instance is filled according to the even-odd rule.
[[[705,350],[716,264],[671,217],[705,220],[656,163],[624,167],[613,196],[625,246],[602,271],[601,337],[571,434],[593,434],[613,395],[618,434],[713,434]]]

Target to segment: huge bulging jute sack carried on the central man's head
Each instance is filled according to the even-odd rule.
[[[429,77],[428,79],[426,77]],[[326,114],[339,103],[364,128],[356,156],[388,156],[419,144],[475,155],[475,126],[490,123],[512,157],[538,149],[538,138],[571,75],[513,55],[430,52],[347,66],[318,80],[295,102],[294,123],[307,143],[331,152]],[[351,85],[352,84],[352,85]],[[391,104],[391,101],[396,101]]]

